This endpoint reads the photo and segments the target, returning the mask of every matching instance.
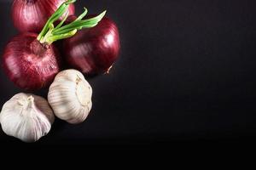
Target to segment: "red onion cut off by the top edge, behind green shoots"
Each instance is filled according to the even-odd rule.
[[[15,0],[12,6],[12,19],[20,32],[39,32],[43,29],[49,17],[66,0]],[[75,8],[70,4],[69,14],[74,14]]]

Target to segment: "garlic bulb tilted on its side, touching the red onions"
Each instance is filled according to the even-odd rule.
[[[81,72],[61,71],[49,87],[48,101],[55,116],[69,123],[84,122],[88,116],[92,89]]]

